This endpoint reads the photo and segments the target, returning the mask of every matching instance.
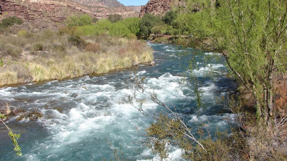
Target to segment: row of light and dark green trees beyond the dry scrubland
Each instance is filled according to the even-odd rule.
[[[60,28],[61,33],[76,35],[119,36],[129,39],[148,39],[150,34],[177,34],[172,21],[177,17],[174,11],[169,11],[164,17],[157,17],[150,13],[142,18],[129,17],[123,19],[119,14],[110,15],[107,19],[92,18],[89,15],[67,17],[66,27]]]

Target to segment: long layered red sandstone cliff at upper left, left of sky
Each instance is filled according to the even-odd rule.
[[[116,13],[123,17],[137,17],[139,14],[129,7],[85,6],[67,0],[0,0],[0,12],[25,21],[43,19],[53,22],[61,22],[71,15],[88,14],[100,18]]]

